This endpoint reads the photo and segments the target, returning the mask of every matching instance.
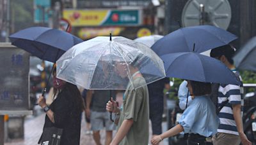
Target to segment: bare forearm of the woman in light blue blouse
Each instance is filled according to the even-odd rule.
[[[164,132],[163,134],[157,135],[151,139],[152,144],[159,144],[159,142],[163,141],[163,139],[167,137],[172,137],[173,135],[177,135],[180,132],[183,132],[184,129],[180,124],[175,125],[175,127],[170,128],[170,130]]]

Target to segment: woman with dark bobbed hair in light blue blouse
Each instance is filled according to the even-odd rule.
[[[205,138],[217,133],[219,125],[214,104],[207,94],[211,93],[211,83],[188,81],[191,94],[191,104],[180,117],[179,124],[151,140],[152,144],[159,144],[166,137],[189,133],[188,144],[205,144]]]

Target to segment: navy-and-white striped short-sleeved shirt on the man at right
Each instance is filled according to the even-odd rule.
[[[233,70],[236,76],[242,82],[242,78],[238,71]],[[241,116],[243,116],[243,85],[220,85],[218,91],[218,106],[221,102],[224,102],[228,99],[228,103],[221,109],[220,114],[220,126],[218,132],[223,132],[227,134],[239,135],[237,132],[236,121],[234,120],[234,115],[232,111],[233,104],[241,104]]]

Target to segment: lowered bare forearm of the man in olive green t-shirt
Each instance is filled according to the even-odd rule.
[[[132,127],[133,120],[124,120],[116,132],[116,135],[111,142],[111,145],[117,145],[119,144],[122,139],[124,139],[125,135],[129,132],[130,128]]]

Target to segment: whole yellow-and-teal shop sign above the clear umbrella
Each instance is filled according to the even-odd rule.
[[[64,10],[72,26],[141,25],[141,10]]]

